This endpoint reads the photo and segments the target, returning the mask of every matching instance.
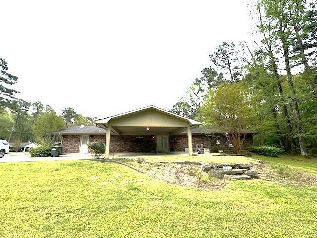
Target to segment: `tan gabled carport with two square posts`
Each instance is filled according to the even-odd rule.
[[[109,158],[111,135],[151,136],[155,151],[169,151],[169,136],[187,130],[188,154],[192,155],[192,128],[202,123],[155,106],[148,106],[95,121],[106,129],[106,158]]]

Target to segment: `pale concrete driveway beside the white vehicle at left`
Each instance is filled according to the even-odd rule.
[[[58,157],[31,157],[27,152],[9,152],[0,162],[28,162],[28,161],[55,161],[55,160],[87,160],[92,159],[92,154],[67,154]]]

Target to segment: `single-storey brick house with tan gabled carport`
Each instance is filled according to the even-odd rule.
[[[133,110],[95,121],[97,126],[81,125],[54,132],[62,135],[62,154],[88,153],[87,144],[103,140],[109,153],[185,151],[188,145],[210,148],[224,133],[201,122],[155,106]],[[111,133],[110,133],[111,132]],[[111,136],[106,138],[107,133]],[[225,140],[222,139],[222,142]],[[244,148],[252,144],[252,132],[246,132]],[[189,148],[189,154],[192,149]]]

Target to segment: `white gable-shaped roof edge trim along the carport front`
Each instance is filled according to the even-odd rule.
[[[106,124],[106,123],[109,123],[109,121],[111,119],[124,117],[124,116],[127,116],[129,114],[138,113],[138,112],[145,111],[145,110],[148,110],[148,109],[154,109],[154,110],[159,111],[161,113],[164,113],[166,115],[169,115],[169,116],[172,116],[172,117],[175,117],[175,118],[179,118],[179,119],[182,119],[182,120],[187,120],[192,125],[201,125],[202,124],[201,122],[199,122],[197,120],[185,118],[183,116],[180,116],[178,114],[166,111],[164,109],[161,109],[161,108],[153,106],[153,105],[150,105],[150,106],[147,106],[147,107],[144,107],[144,108],[135,109],[135,110],[132,110],[132,111],[129,111],[129,112],[113,115],[113,116],[110,116],[110,117],[107,117],[107,118],[103,118],[103,119],[100,119],[100,120],[96,120],[95,123],[96,124]]]

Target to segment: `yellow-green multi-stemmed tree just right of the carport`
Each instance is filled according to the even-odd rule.
[[[210,91],[200,110],[206,125],[229,132],[237,154],[241,153],[246,131],[252,125],[253,107],[249,92],[242,84],[221,85]]]

